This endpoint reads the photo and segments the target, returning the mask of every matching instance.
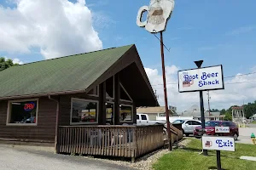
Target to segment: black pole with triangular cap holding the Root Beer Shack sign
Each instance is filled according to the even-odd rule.
[[[195,61],[195,65],[200,69],[201,64],[203,63],[203,60]],[[202,130],[202,135],[206,133],[206,121],[205,121],[205,109],[204,109],[204,99],[203,99],[203,94],[202,91],[199,91],[200,94],[200,107],[201,107],[201,130]],[[203,150],[204,156],[207,156],[207,150]]]

